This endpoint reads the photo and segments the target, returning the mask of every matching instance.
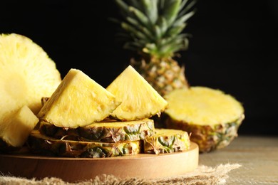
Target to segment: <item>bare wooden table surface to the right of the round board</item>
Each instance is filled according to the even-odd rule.
[[[278,184],[278,137],[239,136],[215,152],[200,154],[199,164],[238,163],[229,172],[228,184]]]

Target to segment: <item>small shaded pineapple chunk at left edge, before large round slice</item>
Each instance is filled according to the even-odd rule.
[[[6,143],[6,147],[22,147],[37,123],[38,117],[24,105],[1,123],[0,139]]]

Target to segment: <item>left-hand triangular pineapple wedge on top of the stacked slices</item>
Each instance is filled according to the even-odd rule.
[[[83,127],[108,117],[119,103],[88,75],[72,68],[38,112],[38,117],[56,127]]]

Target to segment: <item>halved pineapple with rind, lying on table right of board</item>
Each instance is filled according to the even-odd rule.
[[[191,133],[200,152],[226,147],[237,137],[244,108],[235,97],[206,87],[173,90],[165,99],[169,106],[165,125]]]

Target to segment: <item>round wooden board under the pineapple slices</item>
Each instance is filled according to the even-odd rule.
[[[194,142],[189,150],[172,154],[136,154],[110,158],[66,158],[0,154],[4,175],[28,179],[58,177],[74,182],[94,179],[102,174],[120,178],[161,178],[185,174],[197,168],[199,148]]]

